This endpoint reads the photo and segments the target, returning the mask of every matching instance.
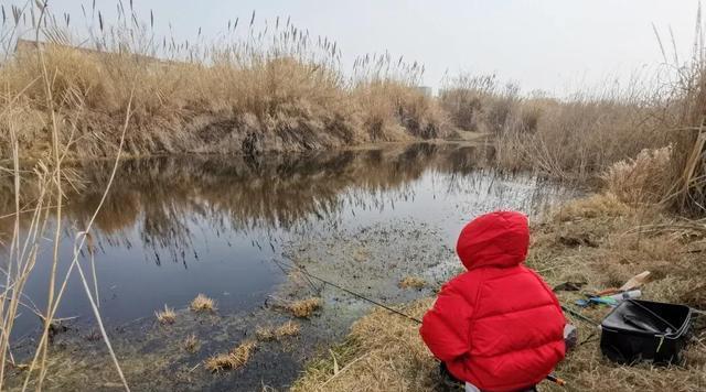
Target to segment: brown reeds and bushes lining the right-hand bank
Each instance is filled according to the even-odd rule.
[[[698,34],[700,23],[699,17]],[[678,70],[659,88],[631,80],[624,90],[557,99],[522,96],[516,86],[500,86],[494,76],[461,75],[447,81],[440,106],[456,127],[494,135],[500,167],[564,179],[602,175],[622,200],[703,215],[705,51],[697,40],[689,62],[666,64]]]

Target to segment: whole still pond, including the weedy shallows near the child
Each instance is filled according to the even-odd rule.
[[[133,358],[124,360],[128,379],[136,390],[253,390],[265,381],[286,388],[315,348],[345,335],[370,304],[335,290],[319,292],[324,309],[301,320],[295,346],[258,347],[255,364],[229,375],[214,379],[205,371],[194,372],[208,356],[252,337],[257,326],[291,317],[264,307],[267,301],[312,295],[306,284],[293,283],[281,262],[306,265],[377,301],[404,303],[432,295],[459,271],[453,248],[469,219],[495,209],[536,217],[576,195],[570,187],[528,174],[494,171],[485,165],[492,153],[485,145],[417,143],[122,162],[79,262],[92,293],[97,291],[116,351]],[[60,276],[72,260],[76,232],[100,200],[110,168],[109,163],[94,162],[79,170],[82,186],[69,195],[63,214]],[[0,220],[0,237],[7,236],[7,219]],[[24,290],[30,306],[45,306],[51,252],[46,239]],[[404,276],[421,276],[429,284],[403,290],[397,283]],[[73,330],[93,328],[93,313],[75,271],[67,287],[58,316],[77,317],[71,322]],[[215,318],[183,311],[199,293],[216,300]],[[178,323],[167,329],[154,324],[154,311],[164,305],[182,309]],[[13,330],[15,341],[31,341],[26,337],[40,328],[39,317],[24,309]],[[180,341],[191,334],[199,336],[202,348],[196,353],[180,351]],[[81,333],[73,346],[60,344],[64,349],[57,355],[93,358],[96,350],[105,350],[94,340]],[[98,389],[106,385],[100,383],[101,372],[111,380],[108,384],[115,381],[103,352],[103,362],[90,369]],[[162,366],[146,363],[149,358],[159,358]],[[82,370],[66,372],[68,381],[56,384],[58,389],[86,386],[76,375]]]

